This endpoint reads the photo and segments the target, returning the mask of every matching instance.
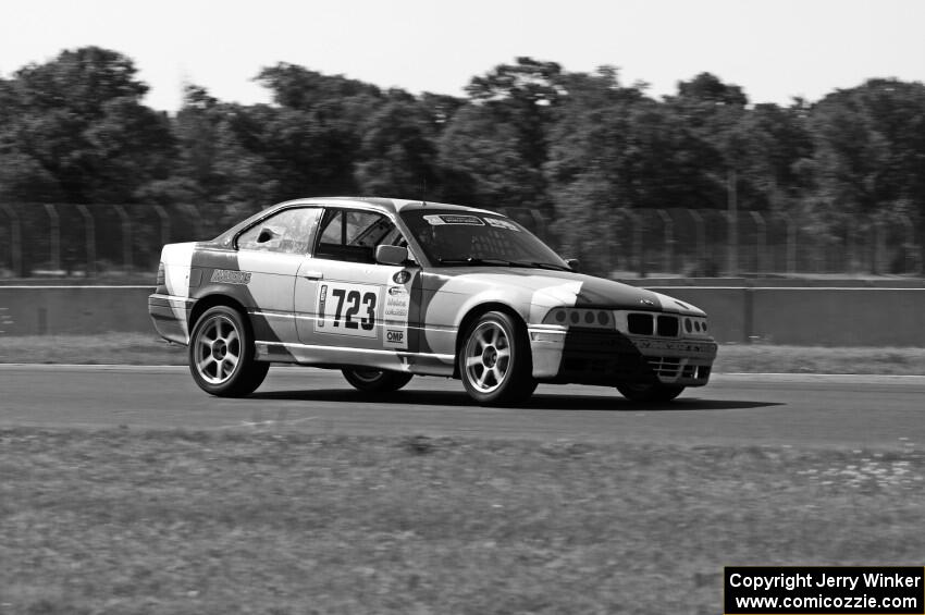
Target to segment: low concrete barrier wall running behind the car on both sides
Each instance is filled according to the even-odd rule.
[[[706,310],[720,343],[925,347],[925,288],[652,290]],[[155,335],[148,318],[151,292],[150,286],[0,286],[1,335]]]

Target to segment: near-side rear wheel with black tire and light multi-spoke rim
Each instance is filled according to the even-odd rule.
[[[270,369],[254,355],[250,327],[236,309],[215,306],[196,321],[189,336],[189,372],[206,393],[219,397],[254,393]]]

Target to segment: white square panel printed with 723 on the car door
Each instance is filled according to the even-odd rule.
[[[375,337],[379,286],[372,284],[326,283],[318,285],[319,333]]]

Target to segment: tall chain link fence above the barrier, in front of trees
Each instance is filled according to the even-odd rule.
[[[530,209],[505,211],[559,247],[556,224]],[[0,202],[0,279],[149,276],[163,244],[213,237],[223,227],[194,206]],[[615,276],[923,271],[915,221],[902,214],[821,225],[757,211],[614,210],[600,229],[604,248],[583,267]]]

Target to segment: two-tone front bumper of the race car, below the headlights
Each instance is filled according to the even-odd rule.
[[[717,348],[712,339],[658,339],[600,329],[536,325],[528,333],[533,377],[544,382],[703,386]]]

